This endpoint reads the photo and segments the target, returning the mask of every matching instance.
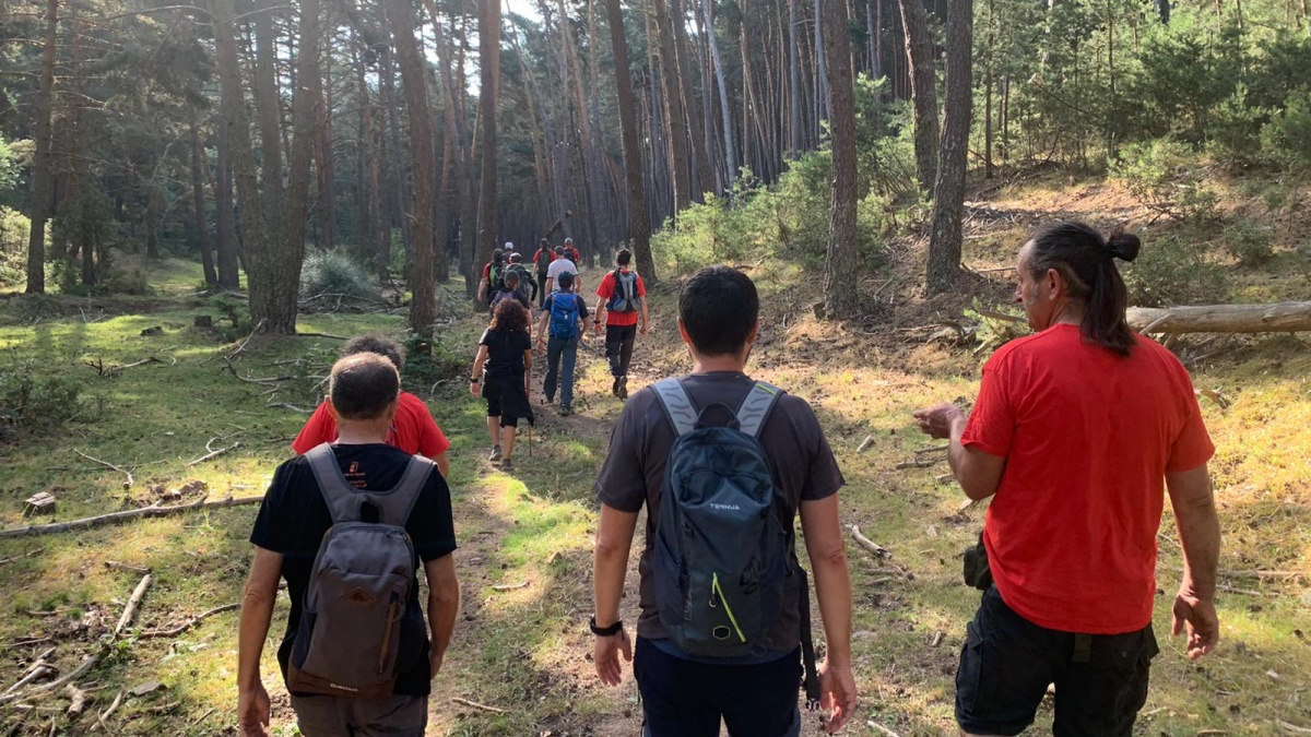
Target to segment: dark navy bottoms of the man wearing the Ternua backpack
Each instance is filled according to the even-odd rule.
[[[711,665],[637,639],[633,677],[642,694],[642,737],[796,737],[801,729],[800,648],[759,665]]]

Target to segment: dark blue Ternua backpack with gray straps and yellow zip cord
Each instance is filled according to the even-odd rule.
[[[783,391],[756,382],[734,412],[718,403],[697,410],[678,379],[652,388],[676,435],[656,526],[661,624],[688,654],[763,654],[783,610],[785,581],[798,574],[808,708],[818,706],[809,588],[793,565],[793,535],[780,521],[781,501],[758,439]],[[713,424],[716,414],[726,422]]]

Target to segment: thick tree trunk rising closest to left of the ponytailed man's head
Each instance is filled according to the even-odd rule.
[[[961,214],[973,108],[973,25],[974,0],[952,0],[947,8],[947,121],[928,240],[929,294],[949,291],[961,269]]]

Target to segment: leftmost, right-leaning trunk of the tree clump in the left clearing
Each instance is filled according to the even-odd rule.
[[[232,173],[236,180],[237,197],[241,203],[241,239],[244,241],[246,279],[249,282],[252,315],[254,304],[267,302],[261,291],[264,285],[256,274],[264,271],[273,243],[273,233],[266,227],[265,199],[260,194],[260,181],[256,176],[254,148],[250,140],[250,121],[246,118],[243,97],[241,63],[232,30],[233,0],[210,0],[214,16],[215,63],[219,68],[220,105],[228,119],[231,131]],[[270,207],[273,203],[269,203]],[[275,212],[278,210],[274,210]],[[258,324],[258,317],[256,317]],[[265,325],[267,329],[267,325]]]

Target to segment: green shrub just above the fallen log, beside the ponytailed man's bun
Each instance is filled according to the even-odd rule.
[[[1224,302],[1228,281],[1209,261],[1193,233],[1163,236],[1146,244],[1138,260],[1122,266],[1129,302],[1142,307]]]

